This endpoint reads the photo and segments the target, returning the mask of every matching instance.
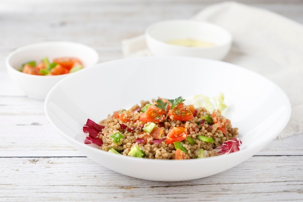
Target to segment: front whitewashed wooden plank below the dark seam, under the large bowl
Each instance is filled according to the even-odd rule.
[[[0,158],[0,201],[300,202],[302,160],[256,156],[207,178],[153,182],[121,175],[84,157]]]

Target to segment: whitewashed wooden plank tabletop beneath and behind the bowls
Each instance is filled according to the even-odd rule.
[[[152,182],[110,171],[71,147],[44,103],[11,82],[5,58],[17,47],[67,40],[119,59],[121,40],[152,22],[189,18],[219,0],[0,0],[0,202],[303,201],[303,134],[274,140],[211,177]],[[241,0],[303,23],[303,0]]]

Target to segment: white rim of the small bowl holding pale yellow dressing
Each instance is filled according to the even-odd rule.
[[[161,24],[167,24],[167,23],[196,23],[196,24],[199,24],[199,25],[207,25],[207,26],[210,26],[210,27],[213,27],[215,29],[219,29],[221,30],[222,32],[224,32],[225,35],[227,35],[228,37],[228,40],[226,40],[226,42],[220,44],[220,45],[216,45],[216,46],[213,46],[213,47],[186,47],[186,46],[179,46],[179,45],[173,45],[173,44],[168,44],[164,41],[161,41],[161,40],[158,40],[156,39],[155,37],[153,37],[151,34],[150,34],[150,31],[156,27],[156,26],[159,26]],[[227,29],[217,25],[217,24],[214,24],[214,23],[211,23],[211,22],[206,22],[206,21],[200,21],[200,20],[196,20],[196,19],[172,19],[172,20],[163,20],[163,21],[158,21],[158,22],[155,22],[151,25],[149,25],[145,31],[144,31],[144,35],[145,35],[145,38],[147,39],[152,39],[153,41],[155,41],[156,43],[159,43],[161,44],[161,46],[166,46],[166,47],[174,47],[174,48],[178,48],[178,49],[184,49],[184,50],[189,50],[189,49],[216,49],[218,47],[224,47],[224,46],[227,46],[228,44],[231,44],[232,41],[233,41],[233,37],[232,37],[232,34],[227,31]]]

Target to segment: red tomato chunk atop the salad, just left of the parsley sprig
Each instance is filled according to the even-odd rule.
[[[140,116],[140,121],[145,123],[161,123],[166,118],[166,111],[164,109],[157,108],[155,105],[151,105],[143,114]]]

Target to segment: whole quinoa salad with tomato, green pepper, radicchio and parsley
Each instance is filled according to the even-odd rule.
[[[239,151],[238,128],[220,109],[185,105],[184,99],[141,101],[109,114],[98,124],[88,119],[84,143],[117,155],[150,159],[191,159]]]

